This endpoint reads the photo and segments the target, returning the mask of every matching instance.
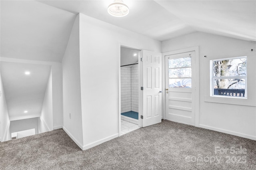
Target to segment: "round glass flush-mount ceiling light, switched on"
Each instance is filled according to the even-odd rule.
[[[122,17],[129,13],[129,8],[122,0],[114,0],[114,2],[108,6],[108,13],[112,16]]]

